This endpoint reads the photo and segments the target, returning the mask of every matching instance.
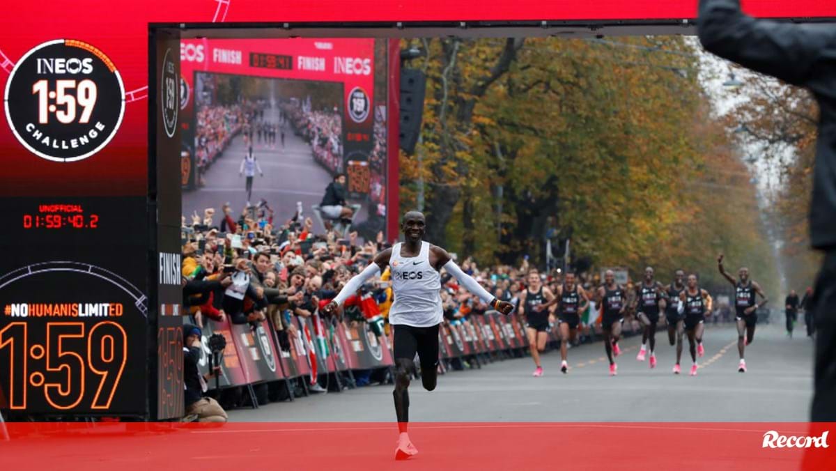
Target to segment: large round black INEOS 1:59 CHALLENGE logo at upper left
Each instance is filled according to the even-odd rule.
[[[104,53],[74,39],[39,44],[14,66],[4,95],[14,136],[50,161],[80,161],[115,136],[125,86]]]

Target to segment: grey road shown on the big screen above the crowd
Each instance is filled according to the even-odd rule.
[[[269,122],[278,122],[278,109],[264,111],[264,118]],[[325,187],[331,182],[331,176],[324,167],[314,161],[310,145],[301,137],[293,134],[288,125],[285,130],[282,147],[278,136],[276,146],[271,148],[263,143],[259,144],[255,136],[253,153],[258,165],[264,172],[264,177],[256,173],[252,182],[252,204],[264,198],[273,208],[279,223],[293,217],[296,212],[296,202],[302,202],[303,216],[313,217],[311,206],[319,204],[325,193]],[[238,174],[241,161],[247,153],[243,135],[233,138],[232,143],[223,155],[209,168],[203,176],[206,185],[195,191],[183,192],[183,214],[191,223],[191,214],[196,211],[203,215],[206,207],[215,208],[215,223],[221,223],[221,206],[224,202],[232,205],[232,212],[237,218],[247,202],[245,188],[246,178]],[[358,221],[366,218],[365,207],[361,209]],[[314,232],[324,233],[314,218]]]

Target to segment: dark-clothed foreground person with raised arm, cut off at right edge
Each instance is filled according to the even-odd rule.
[[[818,141],[810,205],[813,248],[825,252],[813,288],[816,330],[813,422],[836,422],[836,27],[759,20],[740,0],[700,0],[697,31],[707,51],[810,90]]]

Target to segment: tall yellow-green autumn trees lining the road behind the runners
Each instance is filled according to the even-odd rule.
[[[551,231],[580,269],[684,267],[706,283],[719,250],[770,253],[757,209],[729,206],[755,208],[755,189],[683,38],[445,39],[428,52],[423,142],[401,157],[401,182],[405,208],[426,182],[434,242],[542,264]]]

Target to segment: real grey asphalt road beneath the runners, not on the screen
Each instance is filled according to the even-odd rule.
[[[801,329],[803,330],[803,329]],[[410,387],[413,422],[803,422],[812,397],[813,341],[796,330],[758,325],[747,347],[748,371],[737,372],[737,331],[709,326],[706,355],[697,376],[688,376],[687,343],[681,363],[666,332],[657,337],[658,366],[636,361],[640,337],[622,340],[618,376],[609,376],[601,342],[568,351],[563,375],[559,351],[543,356],[545,375],[532,376],[530,358],[497,361],[481,370],[451,371],[434,392]],[[391,386],[299,397],[257,410],[236,410],[232,422],[387,422],[395,420]]]

